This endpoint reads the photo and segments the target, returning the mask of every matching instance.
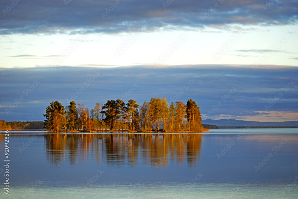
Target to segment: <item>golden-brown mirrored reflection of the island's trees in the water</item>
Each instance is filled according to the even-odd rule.
[[[137,164],[157,169],[169,162],[195,166],[202,134],[83,134],[45,135],[46,159],[52,165],[75,165],[88,159],[108,166]]]

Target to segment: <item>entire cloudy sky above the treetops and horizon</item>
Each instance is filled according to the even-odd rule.
[[[4,0],[0,10],[0,120],[44,120],[56,100],[92,109],[163,96],[192,98],[203,120],[298,120],[297,1]]]

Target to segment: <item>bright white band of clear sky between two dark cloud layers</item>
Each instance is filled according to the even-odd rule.
[[[1,38],[2,67],[255,64],[266,54],[270,57],[265,64],[297,65],[296,25],[229,28],[231,30],[198,28],[111,35],[5,35]],[[163,59],[167,51],[170,55]],[[68,54],[66,58],[65,54]]]

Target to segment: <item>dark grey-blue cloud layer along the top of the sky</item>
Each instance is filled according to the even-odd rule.
[[[69,3],[65,3],[69,2]],[[146,31],[204,28],[210,25],[286,25],[296,24],[296,1],[274,1],[269,7],[263,0],[185,0],[185,1],[38,1],[19,2],[0,19],[0,34],[32,33],[86,34],[137,32],[142,22]],[[167,3],[171,2],[171,3]],[[11,1],[0,3],[6,10]],[[268,8],[268,9],[264,9]]]

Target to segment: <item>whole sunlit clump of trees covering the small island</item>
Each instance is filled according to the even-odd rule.
[[[64,130],[119,130],[119,131],[207,131],[201,123],[200,106],[189,99],[187,104],[176,101],[168,103],[165,97],[151,98],[142,105],[133,99],[108,100],[96,103],[89,110],[84,104],[71,101],[63,106],[52,101],[44,114],[45,129]]]

